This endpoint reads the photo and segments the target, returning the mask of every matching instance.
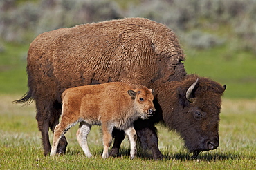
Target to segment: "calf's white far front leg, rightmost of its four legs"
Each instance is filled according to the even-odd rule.
[[[137,148],[136,148],[137,135],[134,127],[129,127],[128,129],[126,129],[125,134],[128,135],[130,144],[131,144],[130,158],[134,159],[137,152]]]

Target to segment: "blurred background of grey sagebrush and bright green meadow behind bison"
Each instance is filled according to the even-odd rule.
[[[226,84],[224,98],[256,98],[256,0],[1,0],[0,94],[27,91],[26,52],[49,30],[145,17],[174,30],[188,74]]]

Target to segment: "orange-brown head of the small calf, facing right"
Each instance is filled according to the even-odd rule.
[[[128,90],[128,94],[134,100],[134,107],[140,118],[147,119],[154,115],[156,111],[152,92],[154,89],[147,89],[147,87],[140,87],[136,90]]]

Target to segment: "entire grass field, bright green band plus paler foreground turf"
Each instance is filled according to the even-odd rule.
[[[45,157],[35,120],[35,105],[12,104],[26,92],[28,45],[6,45],[0,57],[0,169],[256,169],[256,58],[248,52],[217,47],[207,51],[187,50],[187,72],[208,76],[226,84],[219,125],[220,145],[199,158],[183,148],[179,135],[158,125],[163,161],[138,152],[129,160],[129,142],[122,143],[121,157],[102,160],[99,127],[89,134],[93,158],[87,159],[76,140],[77,126],[67,132],[66,155]]]

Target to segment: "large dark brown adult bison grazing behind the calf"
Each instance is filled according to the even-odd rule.
[[[174,32],[149,19],[126,18],[61,28],[40,34],[30,44],[28,92],[15,102],[35,101],[46,155],[51,151],[48,130],[53,131],[59,123],[65,89],[111,81],[145,85],[156,89],[157,111],[148,120],[134,122],[141,147],[150,149],[154,159],[162,158],[154,126],[162,121],[179,132],[185,146],[197,156],[200,151],[218,147],[224,88],[198,77],[190,93],[196,100],[188,100],[185,93],[196,79],[187,76],[184,60]],[[172,86],[176,90],[170,89]],[[111,155],[116,156],[124,132],[114,130],[113,137]],[[63,136],[57,152],[64,153],[66,146]]]

